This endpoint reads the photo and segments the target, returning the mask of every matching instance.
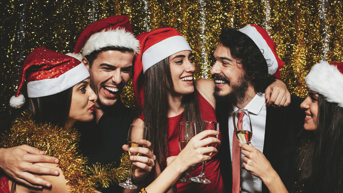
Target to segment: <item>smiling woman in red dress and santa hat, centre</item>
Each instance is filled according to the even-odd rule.
[[[214,82],[201,79],[193,86],[192,50],[186,39],[173,28],[161,28],[137,36],[141,54],[134,62],[134,92],[142,114],[134,124],[149,128],[151,141],[159,169],[166,167],[166,158],[177,156],[178,125],[181,121],[193,121],[200,130],[202,120],[214,121]],[[221,140],[221,135],[218,135]],[[217,146],[220,149],[220,146]],[[177,183],[178,192],[223,192],[216,154],[206,162],[206,178],[210,184]],[[194,168],[192,176],[201,172],[201,165]]]

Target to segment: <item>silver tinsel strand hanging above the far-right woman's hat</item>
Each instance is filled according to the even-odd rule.
[[[328,33],[329,30],[329,26],[327,23],[327,19],[326,19],[326,5],[328,3],[328,0],[320,0],[320,5],[319,5],[319,16],[320,19],[322,19],[323,24],[322,24],[322,29],[323,29],[323,33],[322,33],[322,43],[323,43],[323,48],[322,48],[322,52],[323,55],[321,57],[321,60],[326,60],[328,57],[328,52],[329,52],[329,40],[330,40],[330,34]]]

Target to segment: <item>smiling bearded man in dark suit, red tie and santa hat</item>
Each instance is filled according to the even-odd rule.
[[[220,35],[213,61],[211,74],[216,85],[213,95],[223,139],[220,171],[225,191],[268,192],[261,179],[241,167],[246,159],[238,147],[232,120],[232,113],[239,109],[249,112],[251,144],[263,152],[289,191],[294,183],[296,136],[303,128],[305,114],[300,108],[303,99],[293,95],[275,101],[285,106],[266,105],[264,91],[275,81],[272,74],[277,67],[284,65],[277,57],[274,42],[257,25],[227,29]]]

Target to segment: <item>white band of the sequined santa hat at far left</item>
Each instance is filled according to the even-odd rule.
[[[89,77],[89,72],[83,63],[64,72],[61,76],[51,79],[36,80],[27,83],[29,98],[48,96],[65,91]]]

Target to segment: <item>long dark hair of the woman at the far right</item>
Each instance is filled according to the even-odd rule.
[[[305,192],[343,192],[342,141],[343,108],[318,94],[316,130],[298,163]]]

